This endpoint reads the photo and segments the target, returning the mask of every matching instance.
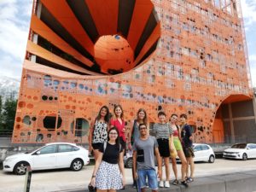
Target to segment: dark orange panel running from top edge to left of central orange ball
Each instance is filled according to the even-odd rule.
[[[49,9],[49,12],[55,16],[56,20],[59,20],[61,25],[67,29],[67,32],[69,32],[73,38],[75,38],[79,44],[90,53],[90,55],[94,55],[94,44],[87,33],[84,32],[83,27],[79,24],[75,15],[73,15],[67,2],[63,0],[41,0],[41,2],[47,9]]]

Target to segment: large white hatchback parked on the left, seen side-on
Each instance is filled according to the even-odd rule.
[[[73,143],[48,143],[31,153],[10,155],[3,161],[4,172],[26,173],[26,166],[32,171],[44,169],[71,168],[79,171],[90,163],[88,150]]]

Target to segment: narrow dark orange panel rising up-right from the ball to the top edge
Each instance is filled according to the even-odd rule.
[[[128,42],[133,50],[136,49],[139,38],[143,33],[143,29],[148,21],[148,17],[153,9],[153,4],[147,0],[137,0],[131,18],[131,26],[127,37]]]

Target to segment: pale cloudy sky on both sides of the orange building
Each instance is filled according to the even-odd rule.
[[[253,86],[256,87],[256,0],[241,0]],[[0,0],[0,76],[20,79],[32,0]]]

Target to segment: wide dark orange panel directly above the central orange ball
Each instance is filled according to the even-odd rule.
[[[119,0],[84,0],[90,9],[99,34],[114,35],[117,33]],[[104,5],[104,6],[102,6]],[[107,16],[108,15],[108,16]]]

